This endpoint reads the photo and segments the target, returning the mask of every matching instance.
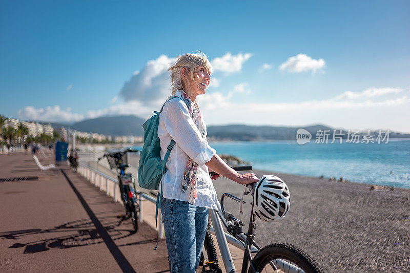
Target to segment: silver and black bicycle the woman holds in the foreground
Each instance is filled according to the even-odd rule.
[[[239,166],[233,167],[236,171],[252,170],[252,166]],[[211,172],[210,175],[216,175],[215,172]],[[246,185],[243,195],[255,193],[255,188],[258,182]],[[235,218],[230,212],[225,211],[223,206],[224,198],[229,197],[235,201],[238,201],[241,205],[245,202],[242,198],[238,198],[228,193],[224,193],[221,196],[220,202],[218,202],[218,209],[209,209],[209,217],[212,223],[215,237],[217,239],[220,254],[223,260],[226,272],[237,272],[233,259],[229,250],[227,236],[224,233],[223,227],[232,236],[231,242],[234,242],[236,246],[241,247],[244,250],[242,273],[258,273],[258,272],[297,272],[297,273],[314,273],[323,272],[320,266],[302,249],[297,246],[288,243],[273,243],[264,247],[260,247],[255,241],[255,216],[254,204],[251,203],[251,216],[249,221],[248,232],[243,233],[242,226],[245,224],[239,219]],[[216,254],[215,243],[212,239],[211,226],[208,224],[207,234],[204,241],[204,247],[202,250],[200,266],[202,266],[202,272],[218,273],[222,272],[218,264],[218,257]],[[252,256],[254,255],[254,256]],[[208,262],[207,262],[208,260]]]

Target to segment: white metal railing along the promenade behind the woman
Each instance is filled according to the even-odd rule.
[[[104,174],[103,172],[100,172],[94,169],[93,167],[83,162],[78,162],[77,173],[85,177],[88,181],[90,181],[95,186],[98,186],[100,191],[105,191],[108,196],[113,197],[115,202],[121,201],[121,196],[119,194],[118,181],[116,179]],[[135,190],[135,192],[139,198],[139,207],[140,207],[139,221],[142,223],[143,221],[142,201],[148,200],[156,204],[157,200],[156,198],[146,193],[139,192],[138,190]],[[158,214],[157,226],[158,226],[158,238],[163,238],[162,215],[160,213]]]

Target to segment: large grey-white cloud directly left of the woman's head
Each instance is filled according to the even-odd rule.
[[[124,83],[119,95],[125,101],[141,101],[149,104],[162,101],[170,95],[171,82],[167,70],[175,60],[160,55],[157,59],[148,61],[140,72],[135,71]]]

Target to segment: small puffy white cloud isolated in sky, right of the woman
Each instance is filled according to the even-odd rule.
[[[279,69],[288,72],[312,71],[315,73],[317,70],[324,68],[325,65],[326,63],[323,59],[315,60],[306,54],[298,54],[283,62]]]

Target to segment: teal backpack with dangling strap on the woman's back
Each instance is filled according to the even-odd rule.
[[[165,102],[173,99],[179,98],[178,96],[172,96],[168,98]],[[139,165],[138,165],[138,185],[147,190],[158,190],[159,183],[161,182],[162,176],[167,172],[165,164],[167,163],[168,157],[171,154],[171,150],[174,147],[175,141],[171,139],[170,144],[167,148],[167,153],[163,160],[161,160],[161,146],[159,144],[158,137],[158,125],[159,125],[159,114],[162,112],[165,103],[162,105],[159,112],[154,112],[154,115],[150,117],[143,125],[144,128],[144,146],[139,153]],[[158,193],[156,202],[156,212],[155,212],[155,223],[158,219],[158,208],[161,207],[162,202],[162,187],[161,193]],[[158,227],[157,227],[158,230]],[[158,236],[157,245],[158,246]]]

